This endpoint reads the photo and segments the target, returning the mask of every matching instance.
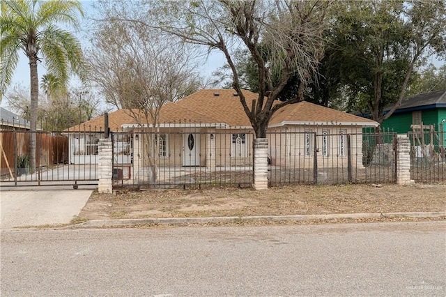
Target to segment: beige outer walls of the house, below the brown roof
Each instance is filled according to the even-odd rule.
[[[160,166],[180,167],[184,165],[184,137],[190,132],[199,135],[199,164],[201,167],[229,167],[252,166],[254,133],[252,130],[243,129],[216,129],[216,128],[160,128],[161,134],[167,134],[168,155],[157,158]],[[306,132],[311,135],[309,155],[306,153]],[[326,155],[323,153],[323,132],[328,141]],[[268,156],[272,165],[288,168],[311,168],[314,164],[314,133],[316,137],[316,153],[319,167],[346,167],[347,166],[347,137],[344,154],[341,154],[341,132],[351,135],[351,155],[354,167],[362,166],[362,127],[348,125],[307,125],[284,126],[280,128],[268,128]],[[240,155],[234,155],[232,135],[245,133],[245,151]],[[210,135],[213,135],[211,139]],[[197,141],[197,139],[195,139]],[[137,164],[137,154],[141,153],[141,138],[139,142],[134,140],[134,158]]]

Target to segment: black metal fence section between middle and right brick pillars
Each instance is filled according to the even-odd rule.
[[[395,181],[392,132],[330,124],[280,128],[268,137],[270,184]]]

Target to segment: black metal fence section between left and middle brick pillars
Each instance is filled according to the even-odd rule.
[[[112,132],[114,187],[249,187],[252,130],[187,121]]]

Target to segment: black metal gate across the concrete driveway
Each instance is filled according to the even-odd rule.
[[[37,132],[36,168],[31,168],[31,132],[0,131],[0,186],[98,185],[98,139],[103,134]]]

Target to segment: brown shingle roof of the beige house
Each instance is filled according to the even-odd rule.
[[[218,96],[216,94],[218,93]],[[240,98],[234,96],[232,89],[205,89],[197,91],[177,102],[169,102],[160,112],[160,123],[178,123],[192,121],[193,123],[225,123],[231,127],[250,127],[251,123]],[[249,108],[252,100],[258,98],[258,94],[243,91]],[[359,125],[378,125],[375,121],[339,112],[328,107],[322,107],[309,102],[299,102],[287,105],[279,109],[270,121],[270,125],[283,125],[285,123],[357,123]],[[137,125],[130,112],[119,109],[109,114],[109,127],[111,130],[119,130],[122,125]],[[104,116],[100,116],[81,125],[81,130],[89,130],[89,127],[104,126]],[[76,125],[67,130],[79,130]]]

